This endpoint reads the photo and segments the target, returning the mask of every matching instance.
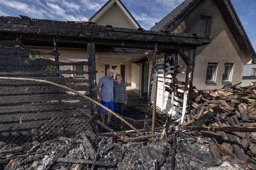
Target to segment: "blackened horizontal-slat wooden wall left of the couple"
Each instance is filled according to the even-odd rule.
[[[1,37],[0,37],[1,38]],[[10,46],[13,44],[13,46]],[[89,71],[56,70],[48,66],[89,65],[86,62],[59,62],[44,59],[43,56],[59,55],[57,50],[51,53],[30,51],[21,47],[19,39],[0,41],[0,77],[18,77],[40,79],[58,83],[85,94],[94,94],[95,79],[73,79],[61,74],[91,74]],[[85,44],[86,46],[86,44]],[[43,58],[30,58],[36,55]],[[90,68],[95,68],[90,66]],[[91,91],[91,93],[89,93]],[[91,113],[91,103],[62,88],[38,82],[0,80],[0,140],[7,143],[24,143],[34,140],[45,140],[54,134],[67,136],[73,130],[89,121],[86,116],[77,112],[77,107]],[[55,135],[58,136],[58,135]]]

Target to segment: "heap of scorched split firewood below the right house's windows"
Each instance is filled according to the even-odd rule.
[[[256,85],[211,91],[194,89],[190,99],[190,114],[181,126],[216,129],[191,131],[215,142],[208,145],[215,165],[222,163],[222,156],[235,156],[246,169],[256,169]]]

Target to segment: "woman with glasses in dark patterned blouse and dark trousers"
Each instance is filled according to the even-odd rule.
[[[127,104],[126,86],[124,82],[121,82],[122,77],[120,74],[115,75],[114,82],[114,108],[115,112],[120,115],[124,115],[124,104]]]

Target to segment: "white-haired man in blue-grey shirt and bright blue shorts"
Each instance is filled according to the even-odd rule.
[[[113,76],[114,70],[107,69],[107,74],[100,78],[97,84],[98,101],[108,109],[114,112],[114,82]],[[101,88],[101,90],[100,90]],[[101,108],[101,120],[105,124],[105,114],[108,114],[107,123],[111,121],[111,113],[108,113],[105,109]]]

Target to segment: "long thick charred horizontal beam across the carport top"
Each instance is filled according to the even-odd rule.
[[[172,34],[164,32],[152,32],[147,30],[135,30],[127,28],[110,28],[101,25],[87,23],[68,23],[62,21],[51,21],[45,19],[26,19],[17,17],[0,17],[0,32],[18,33],[34,35],[50,35],[61,37],[80,37],[85,39],[97,40],[122,40],[135,41],[134,44],[146,42],[148,44],[167,43],[167,44],[192,44],[202,46],[210,43],[211,37],[189,34]],[[23,37],[24,39],[24,37]],[[113,41],[113,42],[114,42]],[[96,41],[94,42],[96,44]],[[106,44],[106,43],[104,43]],[[145,46],[146,47],[146,46]]]

